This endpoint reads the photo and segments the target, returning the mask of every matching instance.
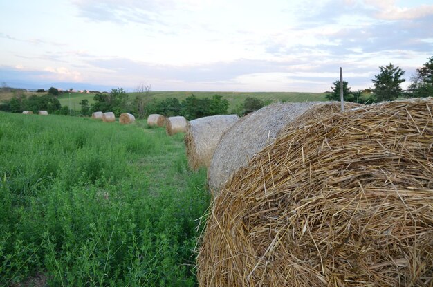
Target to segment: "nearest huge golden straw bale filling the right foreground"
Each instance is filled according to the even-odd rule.
[[[284,130],[216,197],[200,286],[432,286],[433,98]]]

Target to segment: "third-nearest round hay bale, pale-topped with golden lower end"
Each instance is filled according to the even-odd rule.
[[[237,115],[212,115],[188,122],[185,146],[191,169],[209,167],[221,136],[238,120]]]

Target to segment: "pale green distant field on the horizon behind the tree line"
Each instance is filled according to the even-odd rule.
[[[44,95],[45,93],[28,92],[26,95],[30,96]],[[129,93],[129,98],[133,99],[137,93]],[[166,98],[178,98],[181,102],[190,95],[196,95],[197,98],[211,98],[212,95],[222,95],[227,99],[230,106],[229,111],[243,103],[248,97],[255,97],[261,100],[270,100],[271,102],[315,102],[326,101],[326,93],[297,93],[297,92],[198,92],[198,91],[152,91],[151,98],[155,100],[164,100]],[[12,98],[12,93],[0,93],[0,101]],[[63,106],[71,107],[74,111],[81,109],[80,102],[84,99],[89,100],[89,104],[93,103],[95,94],[89,93],[64,93],[59,95],[60,104]]]

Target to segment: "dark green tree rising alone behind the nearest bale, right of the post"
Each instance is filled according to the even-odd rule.
[[[402,78],[405,71],[389,63],[388,66],[380,66],[380,73],[374,76],[373,81],[374,93],[376,100],[382,102],[385,100],[396,100],[402,93],[400,84],[405,82]]]

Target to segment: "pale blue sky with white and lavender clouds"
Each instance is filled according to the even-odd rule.
[[[433,56],[433,0],[0,0],[0,82],[27,89],[351,90]]]

